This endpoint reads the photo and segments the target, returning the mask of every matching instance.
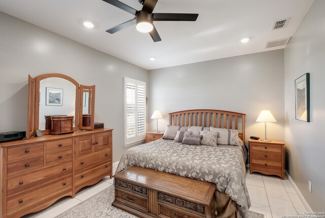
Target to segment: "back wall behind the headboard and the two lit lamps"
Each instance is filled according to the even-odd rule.
[[[255,120],[268,109],[277,120],[268,123],[268,138],[284,140],[283,71],[282,49],[151,70],[148,115],[160,110],[164,119],[158,120],[158,129],[165,130],[168,113],[174,111],[245,113],[247,142],[249,136],[264,137],[264,123]],[[155,130],[156,120],[148,121],[148,129]]]

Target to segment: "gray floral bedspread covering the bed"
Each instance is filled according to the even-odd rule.
[[[240,215],[248,216],[251,203],[245,183],[245,163],[240,150],[156,140],[126,150],[116,173],[130,166],[215,183],[217,191],[225,193],[236,202]]]

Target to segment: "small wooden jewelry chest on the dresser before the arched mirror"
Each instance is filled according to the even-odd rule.
[[[52,135],[73,133],[74,116],[52,116]]]

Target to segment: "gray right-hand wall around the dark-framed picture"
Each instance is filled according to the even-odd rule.
[[[325,1],[316,0],[284,49],[286,169],[313,211],[325,209],[324,10]],[[295,79],[305,73],[310,73],[310,122],[295,119]]]

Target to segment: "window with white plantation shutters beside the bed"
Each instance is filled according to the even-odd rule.
[[[146,83],[124,77],[124,145],[145,139]]]

